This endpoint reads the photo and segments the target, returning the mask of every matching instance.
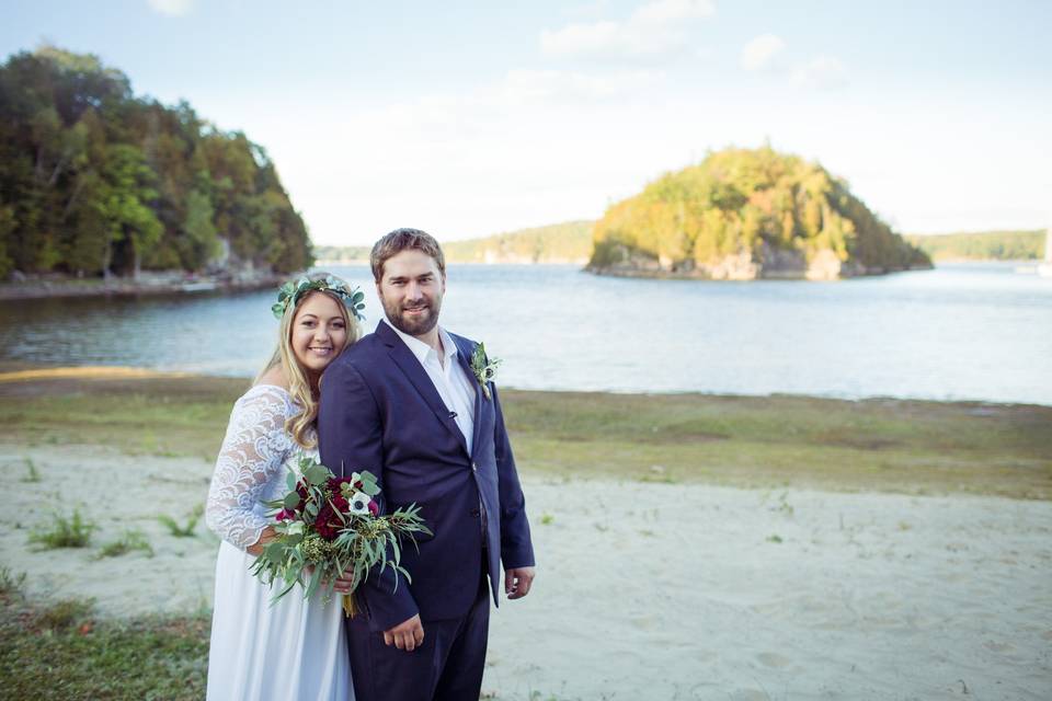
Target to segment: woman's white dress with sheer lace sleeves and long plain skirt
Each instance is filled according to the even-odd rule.
[[[222,538],[208,654],[214,701],[348,701],[354,699],[340,597],[305,600],[296,587],[274,606],[252,576],[245,548],[271,521],[262,502],[287,489],[287,469],[304,450],[285,430],[297,405],[284,389],[256,384],[233,405],[208,491],[205,518]],[[276,585],[275,585],[276,586]]]

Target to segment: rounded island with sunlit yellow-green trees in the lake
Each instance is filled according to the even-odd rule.
[[[614,204],[588,269],[706,279],[835,279],[931,261],[817,163],[727,149]]]

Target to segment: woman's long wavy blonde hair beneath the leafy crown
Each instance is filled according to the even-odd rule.
[[[330,277],[338,281],[343,281],[329,273],[311,273],[307,277],[311,281],[323,280]],[[350,289],[350,285],[346,283],[344,283],[344,287]],[[288,378],[288,393],[293,395],[293,399],[301,407],[298,414],[286,420],[285,430],[304,448],[313,448],[318,445],[317,436],[312,436],[310,433],[310,428],[318,418],[318,388],[311,384],[307,370],[299,364],[299,360],[296,359],[296,353],[293,350],[293,322],[296,320],[296,311],[299,309],[299,306],[311,295],[327,295],[336,302],[340,314],[343,317],[343,322],[347,330],[347,338],[343,344],[343,348],[334,348],[334,355],[339,356],[344,348],[362,337],[362,324],[358,323],[354,314],[347,311],[346,304],[344,304],[338,295],[323,289],[308,291],[299,299],[291,300],[291,302],[285,307],[285,312],[282,314],[277,329],[277,347],[274,348],[271,359],[263,366],[263,369],[254,380],[254,382],[259,382],[264,375],[277,366],[282,366],[285,370],[285,377]]]

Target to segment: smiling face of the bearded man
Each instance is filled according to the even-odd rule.
[[[446,279],[433,257],[408,249],[384,263],[384,277],[376,284],[376,291],[396,329],[423,336],[438,323]]]

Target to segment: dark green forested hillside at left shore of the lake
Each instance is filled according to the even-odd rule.
[[[0,278],[12,271],[289,272],[311,262],[266,151],[90,55],[0,66]]]

